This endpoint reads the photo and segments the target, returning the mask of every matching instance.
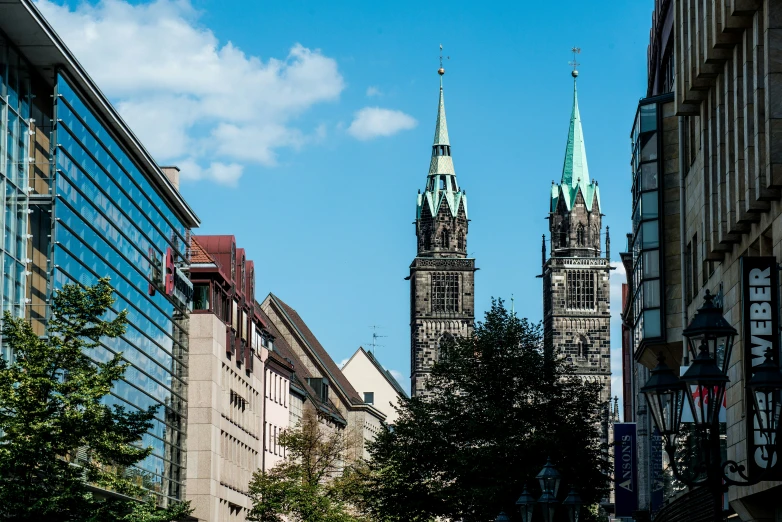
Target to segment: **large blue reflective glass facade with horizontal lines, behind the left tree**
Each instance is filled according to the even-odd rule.
[[[52,286],[111,278],[114,313],[128,311],[128,330],[96,357],[122,352],[131,366],[110,402],[159,407],[142,441],[152,455],[131,473],[161,504],[183,499],[188,312],[165,295],[160,274],[169,252],[177,266],[186,264],[188,231],[64,74],[55,114]]]

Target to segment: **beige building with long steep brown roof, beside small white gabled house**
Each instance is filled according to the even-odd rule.
[[[269,294],[261,307],[275,335],[275,349],[288,351],[294,360],[298,387],[317,401],[314,405],[321,419],[355,436],[357,443],[346,458],[368,456],[365,442],[380,433],[386,416],[364,402],[296,310],[274,294]]]

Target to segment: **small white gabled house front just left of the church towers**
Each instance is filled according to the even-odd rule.
[[[394,406],[407,398],[407,392],[399,385],[391,372],[383,368],[375,354],[359,347],[342,367],[342,373],[371,404],[386,416],[386,424],[393,425],[397,418]]]

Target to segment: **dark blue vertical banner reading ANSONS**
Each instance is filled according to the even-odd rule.
[[[638,459],[635,423],[614,424],[615,516],[632,517],[638,509]]]

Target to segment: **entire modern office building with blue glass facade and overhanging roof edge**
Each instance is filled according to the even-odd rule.
[[[111,403],[158,406],[142,440],[152,454],[135,474],[161,505],[185,498],[187,268],[198,226],[174,182],[34,3],[0,3],[3,308],[44,334],[53,292],[111,277],[128,330],[94,354],[123,352],[130,363]]]

